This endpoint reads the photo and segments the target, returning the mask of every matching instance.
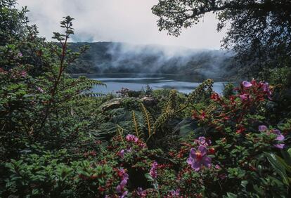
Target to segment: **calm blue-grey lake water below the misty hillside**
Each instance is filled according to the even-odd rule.
[[[97,79],[106,84],[105,86],[96,86],[93,92],[97,93],[116,93],[122,87],[129,90],[141,91],[142,88],[149,85],[153,89],[171,88],[182,93],[190,93],[199,86],[205,79],[202,77],[190,77],[186,75],[175,74],[84,74],[90,79]],[[77,75],[75,75],[77,77]],[[214,80],[213,89],[221,93],[226,81]]]

